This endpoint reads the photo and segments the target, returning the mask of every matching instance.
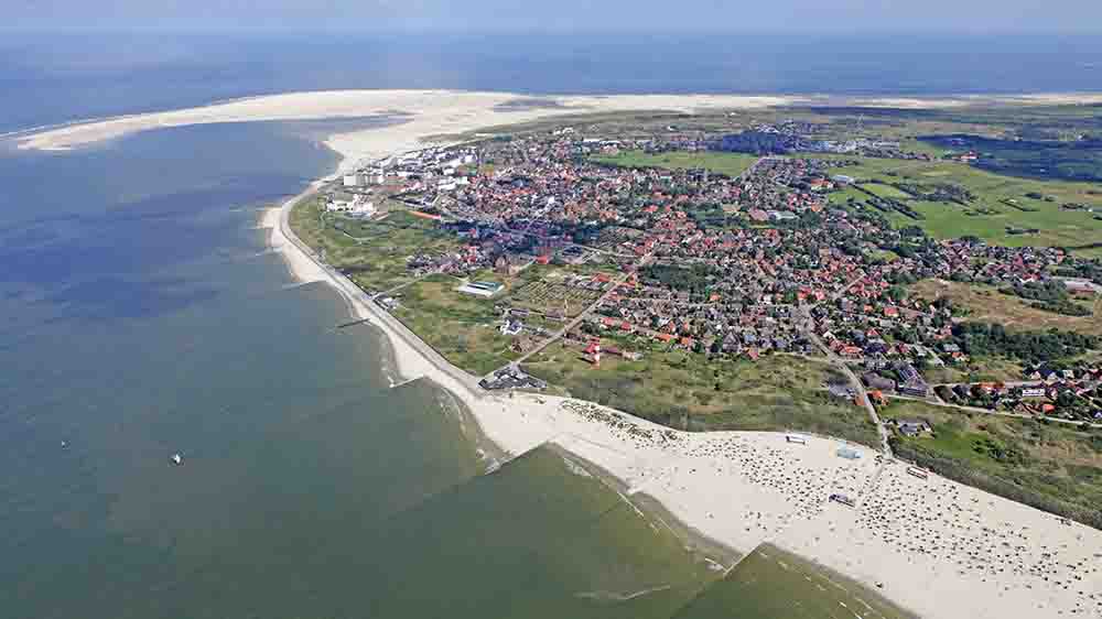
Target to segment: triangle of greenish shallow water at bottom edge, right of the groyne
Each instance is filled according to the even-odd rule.
[[[704,589],[673,619],[719,617],[917,619],[918,616],[836,572],[777,546],[763,544],[726,577]]]

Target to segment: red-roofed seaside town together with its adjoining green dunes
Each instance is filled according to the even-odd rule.
[[[936,238],[912,205],[966,210],[975,192],[869,178],[869,161],[974,159],[796,121],[554,127],[371,162],[301,234],[337,231],[329,262],[487,390],[566,390],[687,430],[838,435],[912,461],[943,413],[1102,428],[1099,260]],[[976,315],[987,306],[1044,319],[1007,327]],[[765,422],[725,413],[778,397]]]

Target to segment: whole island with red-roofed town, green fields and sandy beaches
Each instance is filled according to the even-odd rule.
[[[676,616],[756,566],[858,617],[1102,617],[1098,102],[321,93],[21,148],[403,112],[269,242],[491,468],[565,458],[700,549]]]

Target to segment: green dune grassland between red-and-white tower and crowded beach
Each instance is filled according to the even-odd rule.
[[[606,341],[609,344],[611,341]],[[616,343],[626,349],[631,344]],[[832,399],[825,362],[767,356],[757,362],[714,359],[665,345],[644,345],[629,361],[605,355],[601,367],[574,346],[554,344],[525,368],[572,395],[679,428],[802,430],[876,445],[876,430],[853,402]],[[636,348],[638,349],[638,345]]]

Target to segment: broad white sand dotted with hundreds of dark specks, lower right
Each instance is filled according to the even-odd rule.
[[[677,432],[573,400],[558,409],[557,415],[604,426],[586,432],[587,441],[620,450],[605,465],[627,478],[629,495],[655,496],[739,552],[763,542],[789,545],[842,572],[858,567],[869,585],[904,602],[936,595],[950,580],[974,593],[944,616],[969,616],[968,608],[997,616],[1028,604],[1020,609],[1027,615],[1013,616],[1102,617],[1102,533],[1088,526],[932,474],[914,475],[905,463],[832,438]],[[582,430],[563,421],[560,427]],[[626,459],[625,446],[631,447]],[[840,447],[861,457],[840,457]],[[624,461],[630,465],[618,470]],[[715,497],[692,503],[702,484]],[[838,495],[853,506],[832,501]],[[916,590],[925,588],[920,583],[930,590]]]

